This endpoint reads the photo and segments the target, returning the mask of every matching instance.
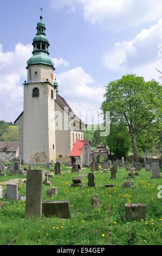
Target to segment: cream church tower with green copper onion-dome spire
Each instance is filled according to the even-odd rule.
[[[49,57],[46,26],[37,23],[33,56],[27,62],[28,81],[24,83],[23,160],[47,163],[56,160],[54,62]]]

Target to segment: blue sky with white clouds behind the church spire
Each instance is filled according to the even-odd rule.
[[[162,70],[161,0],[0,3],[0,120],[14,121],[23,111],[22,83],[27,80],[40,8],[59,94],[76,114],[94,113],[96,123],[105,86],[123,75],[160,81],[156,68]]]

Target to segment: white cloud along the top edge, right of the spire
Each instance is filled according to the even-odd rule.
[[[51,0],[54,9],[83,9],[86,21],[114,31],[153,22],[161,17],[161,0]]]

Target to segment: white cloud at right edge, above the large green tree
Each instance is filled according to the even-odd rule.
[[[155,68],[160,68],[158,45],[162,43],[162,19],[149,29],[142,30],[132,41],[118,42],[105,54],[104,64],[108,69],[133,72],[147,79],[158,80]]]

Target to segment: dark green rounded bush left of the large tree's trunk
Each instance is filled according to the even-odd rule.
[[[128,131],[122,121],[119,124],[111,124],[110,135],[105,138],[105,143],[108,145],[111,153],[121,158],[127,156],[131,148],[131,140]]]

